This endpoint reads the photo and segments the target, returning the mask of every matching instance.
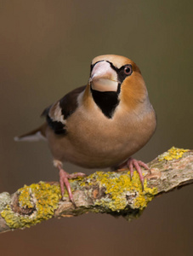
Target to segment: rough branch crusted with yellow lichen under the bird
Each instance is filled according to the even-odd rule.
[[[48,218],[72,217],[84,212],[110,213],[128,220],[139,217],[155,195],[186,183],[193,183],[193,151],[171,148],[144,170],[142,190],[139,175],[122,172],[94,172],[71,180],[76,207],[67,193],[60,199],[59,183],[40,182],[24,186],[13,195],[0,194],[0,232],[30,227]]]

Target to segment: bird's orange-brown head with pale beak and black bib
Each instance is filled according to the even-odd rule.
[[[112,116],[119,102],[128,108],[145,101],[147,90],[139,67],[120,55],[100,55],[91,63],[88,85],[94,102]]]

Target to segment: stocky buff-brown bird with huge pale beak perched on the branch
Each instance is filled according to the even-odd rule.
[[[125,166],[139,173],[144,185],[143,161],[132,155],[143,148],[156,130],[156,113],[139,67],[122,55],[99,55],[90,65],[87,85],[71,90],[42,113],[43,125],[16,141],[46,140],[60,173],[61,196],[67,189],[74,204],[68,173],[63,164],[88,169],[118,170]]]

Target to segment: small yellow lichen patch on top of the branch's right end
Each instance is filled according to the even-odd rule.
[[[168,149],[167,152],[160,154],[158,156],[158,160],[159,161],[173,160],[173,159],[178,160],[179,158],[181,158],[183,156],[184,152],[188,152],[188,151],[189,151],[189,149],[172,147],[172,148]]]

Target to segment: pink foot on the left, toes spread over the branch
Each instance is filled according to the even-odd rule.
[[[66,188],[67,191],[68,191],[69,199],[73,203],[73,205],[75,206],[73,195],[71,193],[71,185],[69,183],[69,178],[85,177],[87,175],[85,173],[82,173],[82,172],[69,174],[68,172],[65,172],[61,168],[60,168],[59,175],[60,175],[60,190],[61,190],[62,198],[63,198],[63,195],[65,194],[65,188]],[[65,184],[65,186],[64,186],[64,184]]]

